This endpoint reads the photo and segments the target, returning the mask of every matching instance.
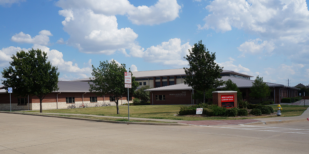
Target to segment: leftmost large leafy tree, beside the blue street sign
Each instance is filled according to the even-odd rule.
[[[12,87],[17,96],[35,95],[40,99],[40,112],[44,97],[58,88],[58,68],[47,61],[47,54],[40,49],[23,50],[11,57],[11,66],[2,71],[7,80],[2,84]]]

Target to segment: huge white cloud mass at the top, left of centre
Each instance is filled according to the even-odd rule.
[[[125,56],[129,56],[125,50],[136,51],[138,34],[129,27],[118,29],[115,15],[126,15],[134,24],[154,25],[174,20],[180,10],[176,0],[159,0],[150,7],[135,7],[127,0],[60,0],[57,6],[63,9],[58,13],[65,17],[62,25],[70,35],[69,45],[84,53],[119,51]]]

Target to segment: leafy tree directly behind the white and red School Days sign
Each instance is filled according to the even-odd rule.
[[[118,65],[115,60],[112,60],[110,63],[108,63],[108,61],[100,62],[98,68],[92,65],[91,75],[93,75],[95,79],[92,80],[90,78],[90,81],[93,83],[89,83],[89,91],[97,92],[97,95],[101,96],[109,94],[111,97],[115,97],[117,114],[120,114],[118,106],[119,99],[128,91],[127,88],[125,88],[125,72],[127,72],[125,64]],[[133,93],[139,84],[135,81],[133,74],[131,80],[132,88],[129,88],[129,92]]]

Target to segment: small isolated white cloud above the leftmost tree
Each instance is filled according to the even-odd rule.
[[[39,35],[35,37],[31,37],[29,34],[24,34],[20,32],[12,36],[11,41],[18,43],[30,43],[30,44],[40,44],[40,45],[48,45],[49,44],[49,36],[53,36],[49,30],[41,30]]]

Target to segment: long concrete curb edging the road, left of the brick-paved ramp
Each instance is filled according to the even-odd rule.
[[[188,124],[182,124],[182,123],[147,123],[147,122],[112,121],[112,120],[99,120],[99,119],[90,119],[90,118],[78,118],[78,117],[69,117],[69,116],[31,114],[31,113],[6,112],[6,111],[0,111],[0,113],[23,114],[23,115],[37,115],[37,116],[44,116],[44,117],[55,117],[55,118],[74,119],[74,120],[86,120],[86,121],[105,122],[105,123],[112,123],[112,124],[189,126]]]

